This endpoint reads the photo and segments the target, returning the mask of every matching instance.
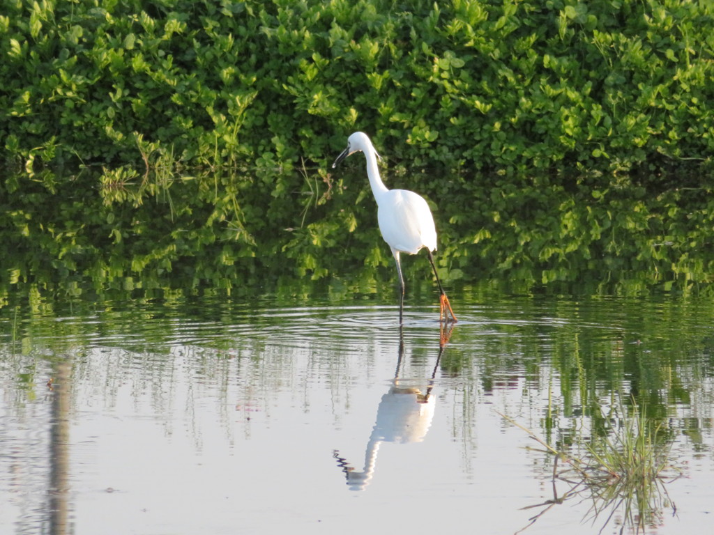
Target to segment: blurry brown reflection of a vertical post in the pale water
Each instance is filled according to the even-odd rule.
[[[69,533],[69,406],[71,363],[56,366],[50,432],[49,524],[51,535]]]

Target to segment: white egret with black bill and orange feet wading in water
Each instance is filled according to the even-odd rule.
[[[401,287],[401,299],[399,300],[399,325],[402,324],[402,314],[404,307],[404,277],[401,271],[399,253],[416,255],[421,248],[426,248],[426,253],[431,264],[431,269],[436,277],[436,284],[439,287],[439,302],[441,305],[440,321],[442,318],[456,322],[448,297],[441,287],[439,276],[434,265],[431,251],[436,250],[436,228],[434,228],[434,218],[429,210],[429,205],[421,195],[409,190],[389,190],[382,182],[377,167],[379,155],[374,150],[372,142],[366,133],[355,132],[347,139],[347,148],[337,157],[332,167],[343,161],[353,153],[363,152],[367,159],[367,176],[372,193],[377,201],[377,220],[382,238],[392,250],[392,255],[397,265],[399,275],[399,285]]]

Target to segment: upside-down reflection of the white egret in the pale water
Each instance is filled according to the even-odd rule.
[[[443,335],[441,340],[445,340]],[[439,349],[436,365],[428,381],[426,392],[413,386],[403,386],[399,381],[399,370],[404,355],[404,342],[399,332],[399,357],[397,360],[394,382],[389,391],[382,396],[377,409],[377,419],[372,434],[369,437],[364,458],[364,468],[358,472],[347,460],[340,457],[339,452],[333,452],[338,466],[342,468],[350,490],[363,490],[371,481],[377,464],[377,452],[382,442],[421,442],[431,427],[436,407],[436,398],[431,395],[433,379],[436,377],[443,344]]]

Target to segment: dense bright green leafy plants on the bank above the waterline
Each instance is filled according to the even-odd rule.
[[[714,149],[714,5],[687,0],[3,0],[23,161],[661,170]],[[387,149],[388,148],[388,149]]]

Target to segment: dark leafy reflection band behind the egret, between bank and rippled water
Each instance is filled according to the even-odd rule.
[[[623,183],[591,191],[575,182],[565,190],[545,178],[513,188],[498,177],[462,175],[437,185],[423,173],[396,173],[388,182],[438,200],[445,279],[508,277],[526,281],[527,291],[577,281],[590,293],[618,285],[618,292],[698,292],[710,282],[708,188],[657,193]],[[186,176],[119,168],[99,180],[86,171],[59,180],[46,171],[9,176],[0,198],[8,251],[0,277],[10,280],[233,287],[364,266],[385,268],[386,276],[393,267],[361,172]],[[416,260],[406,270],[410,280],[429,276]]]

